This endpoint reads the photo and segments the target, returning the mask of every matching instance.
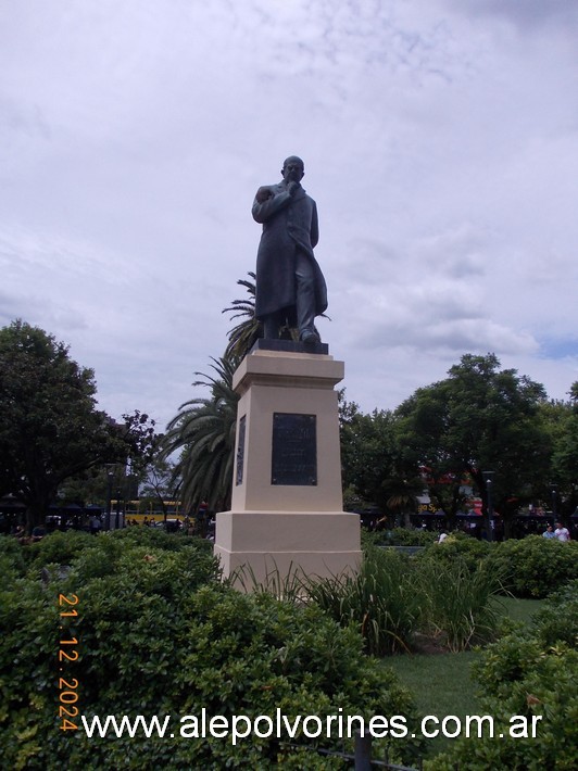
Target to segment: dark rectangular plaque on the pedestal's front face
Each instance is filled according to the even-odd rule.
[[[273,413],[272,484],[317,484],[315,415]]]

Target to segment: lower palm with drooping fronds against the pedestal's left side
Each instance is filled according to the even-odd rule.
[[[163,444],[165,456],[181,451],[174,476],[183,480],[178,493],[189,511],[197,510],[202,501],[210,509],[230,506],[239,400],[233,390],[233,374],[239,362],[226,355],[212,361],[216,376],[194,372],[203,379],[192,383],[210,388],[211,396],[181,404]]]

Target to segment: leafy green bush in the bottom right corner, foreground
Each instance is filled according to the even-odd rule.
[[[578,650],[566,642],[578,635],[576,589],[575,582],[553,597],[529,631],[517,629],[506,634],[475,665],[474,674],[482,688],[481,709],[494,718],[494,737],[456,740],[451,751],[426,763],[426,769],[576,768]],[[512,716],[528,718],[530,726],[532,717],[541,716],[536,737],[511,737]]]

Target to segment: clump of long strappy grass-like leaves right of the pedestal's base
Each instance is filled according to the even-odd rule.
[[[366,546],[356,576],[311,582],[307,592],[342,627],[361,632],[368,654],[409,652],[417,632],[464,650],[493,637],[502,590],[500,572],[474,561],[479,549],[466,549],[464,558],[453,544],[439,544],[410,558]]]

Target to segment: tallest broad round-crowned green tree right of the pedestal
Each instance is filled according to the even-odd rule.
[[[482,472],[495,472],[493,504],[508,522],[550,468],[551,441],[540,417],[541,384],[494,354],[466,354],[445,380],[418,389],[395,410],[398,440],[411,463],[436,479],[468,473],[487,503]],[[455,498],[457,501],[457,497]]]

